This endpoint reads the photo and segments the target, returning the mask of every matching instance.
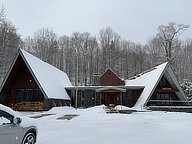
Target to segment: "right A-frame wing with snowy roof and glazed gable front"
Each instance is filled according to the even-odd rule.
[[[126,81],[127,86],[144,86],[134,108],[182,106],[186,96],[169,64],[165,62]]]

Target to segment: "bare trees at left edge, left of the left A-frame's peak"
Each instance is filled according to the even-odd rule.
[[[0,79],[3,79],[21,44],[15,26],[6,19],[5,9],[0,9]]]

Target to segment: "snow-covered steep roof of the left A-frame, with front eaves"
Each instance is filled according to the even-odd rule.
[[[46,98],[70,100],[65,87],[71,86],[66,73],[20,49],[0,90],[2,90],[19,55]]]

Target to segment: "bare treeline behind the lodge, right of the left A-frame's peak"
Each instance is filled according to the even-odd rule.
[[[100,30],[98,39],[88,32],[58,37],[52,30],[44,28],[25,39],[23,46],[65,71],[73,85],[91,85],[93,75],[101,75],[106,68],[127,79],[165,62],[165,59],[174,59],[172,67],[182,81],[192,77],[191,40],[185,43],[179,40],[179,35],[187,28],[175,23],[160,26],[159,33],[145,46],[122,40],[110,27]]]

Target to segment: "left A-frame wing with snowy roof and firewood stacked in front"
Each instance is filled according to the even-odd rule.
[[[19,50],[0,88],[0,103],[19,110],[47,110],[70,105],[66,73]]]

